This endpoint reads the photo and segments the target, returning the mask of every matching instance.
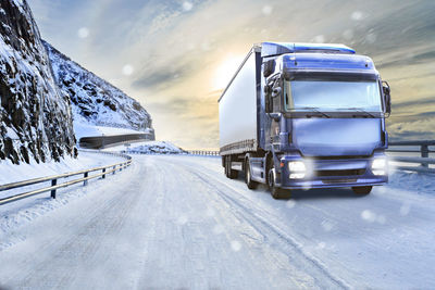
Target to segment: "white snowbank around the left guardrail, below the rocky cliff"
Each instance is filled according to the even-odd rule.
[[[2,161],[0,163],[0,185],[110,165],[124,160],[124,157],[116,155],[80,151],[77,159],[65,157],[61,162],[47,162],[39,164],[32,162],[30,164],[14,165],[10,161]],[[117,173],[113,175],[113,177],[108,177],[108,179],[120,178],[120,176],[126,178],[125,175]],[[75,178],[77,178],[77,176],[72,177],[72,179]],[[62,182],[69,179],[71,178],[63,178]],[[49,186],[49,182],[0,191],[0,198],[11,197],[16,193],[47,186]],[[25,239],[21,236],[14,236],[14,229],[25,224],[29,224],[39,216],[44,216],[55,209],[65,206],[89,192],[94,192],[97,189],[111,188],[112,186],[113,185],[110,181],[91,179],[89,185],[86,187],[84,187],[83,184],[76,184],[67,188],[59,189],[57,199],[51,199],[50,192],[44,192],[16,202],[0,205],[0,251]]]

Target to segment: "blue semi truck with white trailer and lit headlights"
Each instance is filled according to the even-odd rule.
[[[273,198],[294,189],[388,181],[390,88],[373,61],[344,45],[253,45],[219,99],[226,177]]]

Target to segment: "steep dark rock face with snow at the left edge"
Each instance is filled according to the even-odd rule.
[[[25,0],[0,1],[0,159],[15,164],[76,155],[70,97]]]

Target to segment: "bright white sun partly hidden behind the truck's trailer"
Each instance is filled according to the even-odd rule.
[[[229,55],[223,59],[216,66],[212,77],[213,90],[225,89],[243,61],[243,55]]]

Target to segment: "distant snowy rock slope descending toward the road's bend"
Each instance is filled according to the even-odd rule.
[[[58,86],[71,97],[75,122],[150,133],[152,119],[139,102],[82,67],[48,42]]]

